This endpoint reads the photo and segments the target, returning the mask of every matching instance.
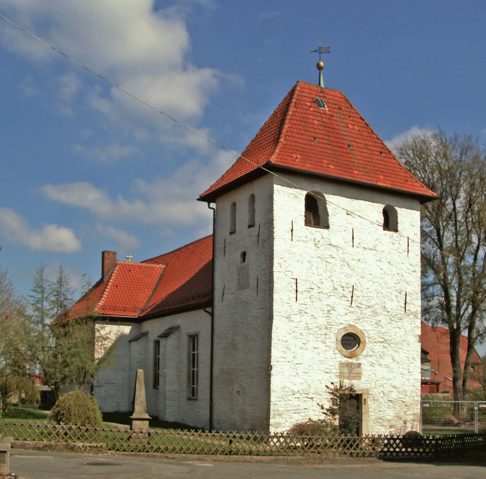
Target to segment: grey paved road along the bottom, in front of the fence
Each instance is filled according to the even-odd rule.
[[[486,465],[486,464],[485,464]],[[319,464],[170,460],[98,454],[13,450],[10,469],[19,479],[478,479],[486,467],[377,460],[330,460]]]

